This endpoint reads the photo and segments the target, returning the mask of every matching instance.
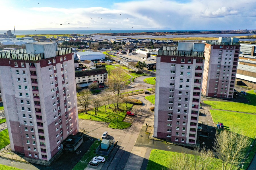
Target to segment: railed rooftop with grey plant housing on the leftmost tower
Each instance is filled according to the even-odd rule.
[[[1,51],[0,58],[40,60],[69,53],[72,53],[71,48],[57,48],[55,42],[31,42],[26,43],[25,49]]]

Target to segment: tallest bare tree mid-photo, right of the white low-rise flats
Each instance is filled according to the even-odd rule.
[[[114,94],[116,101],[116,108],[119,109],[119,98],[123,90],[127,87],[125,85],[126,81],[123,81],[125,77],[125,72],[121,67],[115,68],[112,70],[111,75],[109,76],[108,82],[106,83],[109,86],[109,89]],[[114,103],[114,102],[113,102]]]

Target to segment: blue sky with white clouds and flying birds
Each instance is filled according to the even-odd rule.
[[[256,29],[255,0],[0,0],[0,9],[0,30]]]

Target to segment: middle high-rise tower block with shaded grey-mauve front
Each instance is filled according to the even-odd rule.
[[[158,50],[154,137],[196,144],[203,50],[204,43],[196,42],[179,42]]]

